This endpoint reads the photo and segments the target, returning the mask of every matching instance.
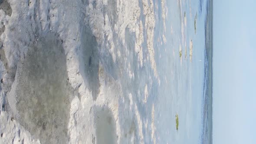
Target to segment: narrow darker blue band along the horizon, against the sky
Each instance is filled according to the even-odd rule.
[[[213,127],[213,0],[207,0],[205,20],[205,60],[203,82],[202,144],[212,144]]]

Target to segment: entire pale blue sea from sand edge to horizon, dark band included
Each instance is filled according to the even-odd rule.
[[[152,101],[159,144],[212,143],[212,7],[212,0],[167,1],[167,42],[155,39],[161,85]],[[161,37],[164,24],[157,23]]]

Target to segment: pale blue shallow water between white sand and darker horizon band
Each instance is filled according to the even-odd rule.
[[[155,1],[161,6],[161,2]],[[202,143],[203,131],[203,85],[205,59],[205,20],[206,1],[167,0],[166,39],[161,45],[158,38],[164,33],[163,21],[156,22],[155,53],[161,84],[156,88],[155,123],[156,142],[159,144],[198,144]],[[187,26],[184,26],[182,42],[181,23],[186,13]],[[161,16],[161,9],[156,12]],[[196,33],[194,20],[197,16]],[[183,20],[182,20],[183,19]],[[171,27],[173,33],[171,33]],[[193,55],[190,62],[189,46],[193,42]],[[179,47],[182,57],[179,56]],[[179,127],[176,130],[175,115],[179,116]]]

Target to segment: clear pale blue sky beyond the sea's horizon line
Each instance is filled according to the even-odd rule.
[[[256,0],[213,0],[213,144],[256,144]]]

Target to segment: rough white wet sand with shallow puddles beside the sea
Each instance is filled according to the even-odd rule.
[[[29,0],[29,2],[9,0],[12,9],[11,16],[0,10],[0,22],[3,22],[3,25],[0,23],[0,28],[5,26],[0,39],[6,58],[4,61],[2,59],[0,61],[0,76],[3,79],[0,92],[0,133],[3,133],[3,137],[0,138],[0,143],[9,143],[10,141],[13,141],[14,144],[20,142],[24,144],[55,142],[56,138],[54,137],[49,137],[48,140],[40,138],[47,137],[48,132],[53,133],[58,128],[66,128],[61,137],[66,137],[68,142],[72,144],[96,144],[102,141],[106,143],[155,143],[154,105],[152,120],[144,121],[139,113],[138,104],[135,102],[135,95],[132,94],[128,98],[126,91],[122,89],[121,81],[116,79],[118,76],[125,75],[126,70],[130,76],[126,78],[127,81],[135,79],[135,66],[133,64],[136,63],[137,67],[143,67],[144,62],[149,62],[150,65],[146,69],[151,69],[154,79],[158,79],[160,84],[153,47],[155,27],[153,1],[150,0],[148,3],[148,0],[142,0],[144,24],[141,20],[141,7],[138,0],[89,0],[89,3],[85,3],[85,1],[50,0],[49,3],[45,0]],[[162,8],[164,9],[163,4]],[[164,20],[166,13],[162,14]],[[41,101],[40,98],[45,97],[35,97],[25,101],[24,108],[26,109],[22,114],[20,109],[16,107],[16,103],[20,101],[17,98],[20,97],[20,85],[26,85],[24,88],[28,89],[33,86],[33,83],[19,80],[23,76],[19,75],[18,71],[23,71],[23,62],[27,62],[26,60],[30,58],[32,46],[36,45],[39,52],[44,45],[47,46],[49,33],[56,36],[57,42],[61,43],[60,48],[62,48],[63,56],[59,57],[64,59],[63,65],[66,69],[59,73],[60,75],[62,72],[63,75],[66,74],[66,77],[63,78],[65,81],[60,81],[57,86],[65,84],[69,85],[68,88],[70,88],[68,98],[65,97],[66,99],[63,100],[66,105],[63,106],[60,101],[51,101],[49,98],[44,99],[45,104],[38,108],[39,114],[43,111],[41,108],[47,108],[46,105],[58,110],[69,109],[69,119],[67,122],[66,120],[64,122],[59,121],[60,127],[56,129],[49,127],[49,121],[53,121],[53,118],[49,117],[50,111],[43,111],[46,113],[46,118],[43,117],[42,119],[49,118],[47,122],[39,121],[40,116],[38,121],[33,121],[34,115],[29,115],[23,122],[21,120],[22,115],[28,115],[27,111],[30,111],[27,105],[35,105],[35,101]],[[127,40],[128,35],[134,38],[134,46],[132,46],[133,42]],[[46,40],[44,41],[44,39]],[[144,42],[144,40],[146,41]],[[44,41],[44,43],[40,43],[40,41]],[[95,48],[97,51],[89,48],[95,46],[94,43],[97,43]],[[143,43],[146,43],[146,49],[143,49]],[[131,56],[133,51],[130,48],[135,51],[136,59]],[[147,61],[146,55],[149,56],[149,61]],[[124,62],[119,64],[123,66],[121,68],[124,70],[115,72],[112,69],[118,65],[117,62],[121,62],[120,59],[124,59]],[[41,60],[48,60],[48,63],[53,62],[53,69],[60,69],[60,65],[54,65],[56,59],[49,61],[51,59],[47,57]],[[28,71],[33,69],[38,68],[27,68]],[[42,67],[42,69],[47,68]],[[21,72],[21,74],[23,73]],[[55,77],[58,74],[48,72],[47,75]],[[43,81],[47,75],[42,75],[38,79]],[[33,81],[33,76],[31,79]],[[148,80],[147,75],[143,79],[144,83],[146,80],[152,81]],[[49,89],[56,86],[54,79],[52,85]],[[56,88],[58,88],[57,86]],[[47,85],[42,86],[42,90],[37,91],[42,91],[42,93],[38,95],[48,92],[47,88]],[[141,92],[144,90],[145,96],[141,98],[141,101],[143,99],[147,101],[151,88],[152,82],[146,87],[143,86]],[[24,91],[24,95],[26,95],[26,89]],[[54,92],[54,90],[49,90],[49,92]],[[31,93],[33,94],[33,92]],[[18,106],[23,108],[22,105]],[[63,114],[58,111],[53,111],[53,113]],[[32,112],[32,114],[36,114],[36,112]],[[60,118],[62,118],[61,116]],[[104,121],[105,119],[108,121]],[[26,124],[27,126],[25,126]],[[33,127],[33,131],[29,129],[33,124],[39,124],[37,125],[38,131],[36,126]],[[148,127],[148,124],[151,125],[151,128]],[[56,126],[59,125],[56,124]],[[144,137],[143,127],[146,127],[147,133],[151,133],[150,138]],[[43,130],[45,132],[40,135],[39,132]],[[58,136],[58,134],[56,135]],[[66,140],[61,137],[59,140]],[[108,138],[104,139],[104,137]]]

